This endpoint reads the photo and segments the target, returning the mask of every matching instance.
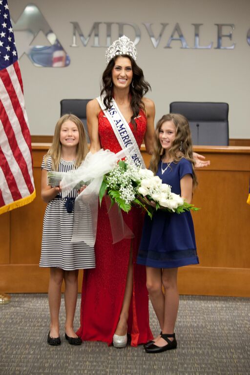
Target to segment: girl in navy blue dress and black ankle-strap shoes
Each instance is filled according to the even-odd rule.
[[[190,129],[184,116],[170,113],[159,120],[150,169],[171,186],[172,192],[191,202],[197,178]],[[145,345],[145,350],[160,353],[175,349],[178,267],[199,263],[191,213],[158,209],[152,220],[146,217],[137,263],[146,265],[147,290],[162,330]]]

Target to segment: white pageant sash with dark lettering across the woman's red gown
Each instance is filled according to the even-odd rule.
[[[101,96],[99,96],[96,99],[100,104],[100,107],[104,111],[104,114],[108,119],[110,125],[112,126],[112,129],[122,149],[128,152],[128,154],[131,156],[132,160],[135,163],[139,163],[142,168],[146,168],[142,154],[137,145],[132,130],[130,129],[128,123],[126,122],[123,114],[121,113],[114,99],[112,99],[111,101],[110,109],[105,108]]]

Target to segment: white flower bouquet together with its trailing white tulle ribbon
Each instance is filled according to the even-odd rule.
[[[75,200],[72,242],[83,241],[88,246],[94,246],[98,198],[101,203],[106,192],[111,199],[111,204],[116,202],[118,207],[125,212],[128,212],[133,205],[139,205],[150,217],[159,208],[177,213],[198,209],[189,205],[179,195],[172,193],[171,187],[163,184],[161,179],[154,176],[150,170],[135,165],[130,157],[126,159],[125,151],[121,150],[116,154],[103,149],[94,154],[89,152],[77,170],[66,173],[55,171],[47,173],[48,185],[59,186],[60,184],[63,198],[73,188],[80,189],[86,185]],[[124,158],[125,161],[121,160]],[[155,208],[150,205],[149,201],[155,202]],[[86,223],[83,221],[83,216],[89,213],[91,220]],[[116,232],[112,232],[113,243],[127,238],[120,213],[119,210],[109,209],[109,220],[115,223],[115,226],[111,225],[111,227],[116,227]]]

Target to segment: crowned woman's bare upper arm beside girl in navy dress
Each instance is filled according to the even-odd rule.
[[[154,117],[155,117],[155,106],[154,102],[150,99],[143,98],[146,109],[146,133],[144,136],[144,143],[146,147],[146,152],[148,154],[153,153],[153,144],[154,144]]]

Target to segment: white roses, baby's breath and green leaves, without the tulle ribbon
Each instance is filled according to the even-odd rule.
[[[154,209],[159,208],[177,213],[199,209],[188,204],[180,195],[172,193],[171,187],[163,184],[151,170],[136,166],[129,158],[119,161],[104,175],[99,193],[100,203],[105,192],[110,197],[111,204],[116,202],[125,212],[128,212],[132,205],[139,205],[150,217]],[[148,204],[149,201],[155,203],[155,208]]]

